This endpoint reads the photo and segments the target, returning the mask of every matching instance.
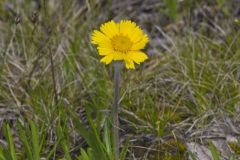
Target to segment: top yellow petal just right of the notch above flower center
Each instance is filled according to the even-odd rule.
[[[119,32],[123,35],[132,35],[132,31],[136,27],[136,23],[129,21],[129,20],[121,20],[119,23]]]

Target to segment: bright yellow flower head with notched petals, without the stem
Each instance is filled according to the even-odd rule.
[[[112,20],[102,24],[100,31],[93,31],[91,40],[98,45],[99,55],[104,56],[100,62],[106,64],[123,60],[126,68],[134,69],[134,62],[140,64],[148,58],[141,51],[148,37],[130,20],[121,20],[119,23]]]

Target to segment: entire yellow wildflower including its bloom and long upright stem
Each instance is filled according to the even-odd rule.
[[[101,25],[99,30],[94,30],[91,43],[97,45],[97,50],[102,56],[100,62],[110,64],[114,62],[114,104],[112,107],[113,142],[115,160],[119,160],[119,81],[121,62],[127,69],[134,69],[135,64],[140,64],[148,59],[142,51],[148,43],[147,34],[135,22],[130,20],[113,20]]]

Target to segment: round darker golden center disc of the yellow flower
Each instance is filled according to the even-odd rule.
[[[132,47],[131,40],[124,35],[116,35],[111,39],[112,46],[114,50],[120,51],[120,52],[127,52]]]

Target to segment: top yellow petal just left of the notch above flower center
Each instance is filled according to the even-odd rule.
[[[108,38],[112,38],[115,35],[119,34],[119,24],[114,22],[113,20],[110,22],[106,22],[100,27],[101,32],[103,32]]]

